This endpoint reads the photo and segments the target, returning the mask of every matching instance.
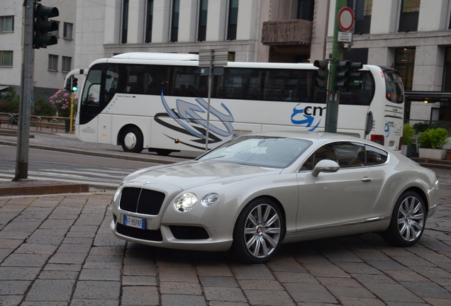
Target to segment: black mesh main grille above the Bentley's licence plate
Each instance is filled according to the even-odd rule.
[[[144,215],[158,215],[165,200],[165,193],[143,188],[123,188],[121,210],[138,212]]]

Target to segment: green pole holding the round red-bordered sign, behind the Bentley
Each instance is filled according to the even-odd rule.
[[[335,70],[337,62],[343,59],[341,42],[338,42],[338,12],[345,7],[347,0],[337,0],[335,4],[335,23],[333,28],[332,64],[330,65],[329,98],[325,110],[325,132],[337,132],[340,91],[335,91]]]

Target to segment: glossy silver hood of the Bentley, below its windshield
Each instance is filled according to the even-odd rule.
[[[189,161],[155,166],[130,174],[124,181],[169,183],[183,190],[206,183],[233,183],[255,176],[279,174],[281,169],[260,168],[240,164]]]

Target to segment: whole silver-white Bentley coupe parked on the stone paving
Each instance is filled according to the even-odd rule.
[[[262,263],[282,243],[364,232],[411,246],[438,197],[433,171],[374,142],[261,132],[189,162],[130,174],[114,196],[111,229],[130,242],[232,248]]]

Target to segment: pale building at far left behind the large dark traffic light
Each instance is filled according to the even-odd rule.
[[[62,89],[67,72],[74,68],[74,34],[76,2],[71,0],[44,0],[43,6],[56,6],[60,16],[59,29],[53,33],[57,45],[34,50],[33,92],[36,97],[47,98]],[[23,1],[0,2],[0,90],[8,86],[20,92],[23,62]]]

